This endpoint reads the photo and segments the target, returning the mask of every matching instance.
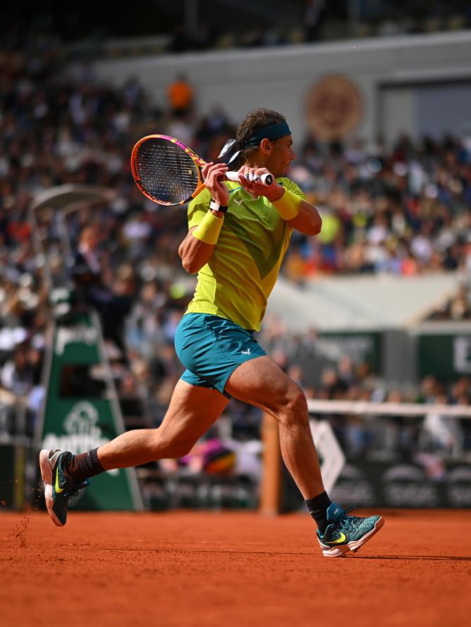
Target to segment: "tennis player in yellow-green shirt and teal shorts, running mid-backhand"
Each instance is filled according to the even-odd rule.
[[[66,523],[68,499],[91,476],[164,458],[183,457],[234,396],[279,422],[281,453],[317,523],[324,555],[340,557],[377,533],[381,516],[358,518],[332,503],[324,490],[302,390],[253,337],[278,277],[290,235],[316,235],[322,221],[294,182],[286,119],[260,108],[238,128],[234,151],[243,162],[239,181],[224,180],[228,166],[203,168],[206,190],[190,202],[189,232],[178,254],[197,287],[176,333],[176,352],[187,370],[157,429],[131,430],[98,449],[39,455],[49,514]],[[257,177],[272,173],[271,185]],[[276,180],[275,180],[276,179]],[[350,508],[351,509],[351,508]]]

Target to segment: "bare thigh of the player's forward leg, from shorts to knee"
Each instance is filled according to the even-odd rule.
[[[267,355],[240,364],[228,378],[226,392],[276,417],[292,412],[307,415],[300,386]]]

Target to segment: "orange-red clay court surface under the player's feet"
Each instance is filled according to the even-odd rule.
[[[471,513],[385,511],[352,557],[306,515],[0,514],[5,626],[470,625]]]

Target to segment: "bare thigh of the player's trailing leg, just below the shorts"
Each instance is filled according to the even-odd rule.
[[[221,392],[190,385],[180,379],[159,427],[159,438],[166,442],[196,442],[219,418],[227,404],[228,399]]]

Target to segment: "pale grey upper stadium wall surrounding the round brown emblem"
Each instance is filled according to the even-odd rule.
[[[184,72],[195,86],[200,113],[221,106],[238,122],[250,109],[269,106],[288,117],[295,142],[307,129],[307,94],[326,75],[343,75],[360,91],[362,114],[353,137],[372,140],[381,134],[389,140],[399,132],[417,137],[471,128],[471,32],[466,31],[120,58],[93,67],[115,84],[137,77],[162,106],[166,87]]]

